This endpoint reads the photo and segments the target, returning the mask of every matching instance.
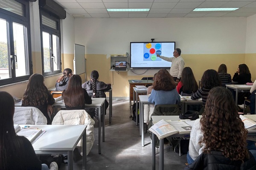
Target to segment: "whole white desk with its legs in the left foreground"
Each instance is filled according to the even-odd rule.
[[[73,150],[83,138],[83,170],[86,170],[86,125],[29,125],[46,130],[33,144],[35,153],[67,154],[68,170],[73,170]]]

